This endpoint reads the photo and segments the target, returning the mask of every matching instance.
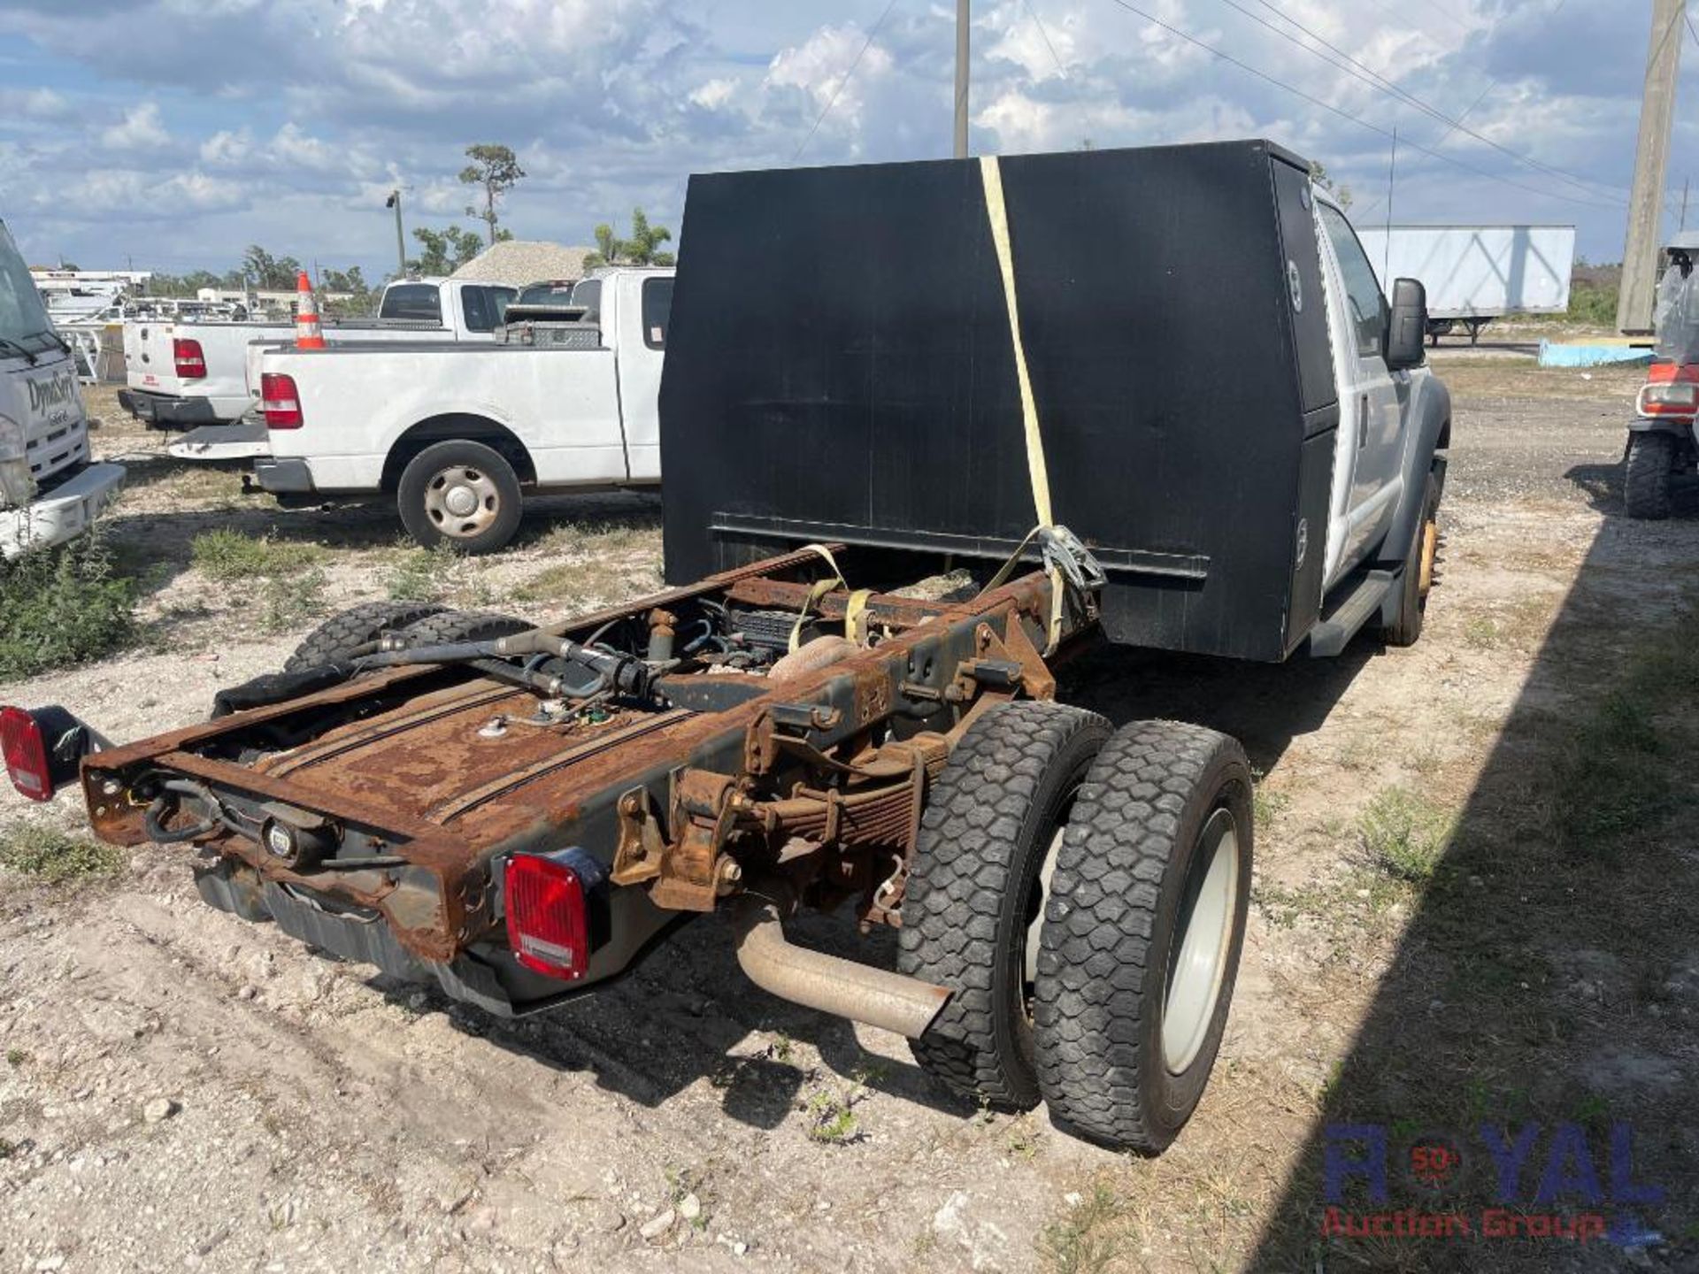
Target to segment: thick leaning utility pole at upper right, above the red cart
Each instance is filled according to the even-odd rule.
[[[1662,246],[1658,238],[1663,229],[1663,175],[1670,161],[1675,71],[1680,66],[1685,20],[1687,0],[1653,0],[1646,87],[1640,99],[1634,189],[1628,199],[1628,238],[1623,245],[1623,290],[1616,301],[1616,330],[1628,335],[1651,331]]]

